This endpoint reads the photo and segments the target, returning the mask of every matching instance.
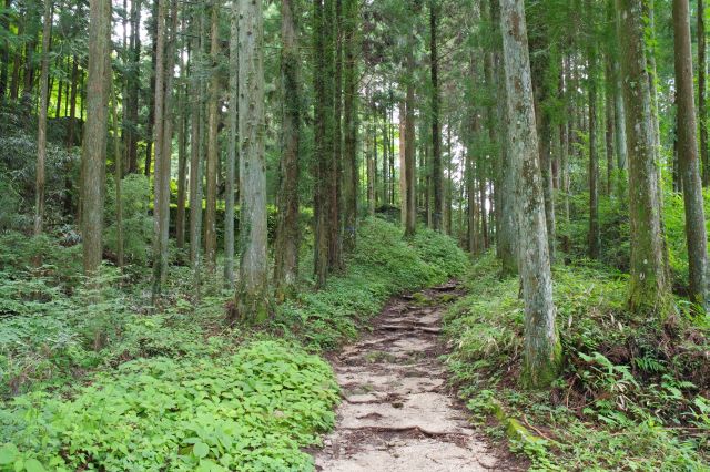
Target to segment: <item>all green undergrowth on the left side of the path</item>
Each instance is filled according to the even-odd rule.
[[[81,247],[62,240],[0,235],[14,248],[0,252],[0,471],[311,470],[302,448],[338,398],[314,352],[355,338],[390,296],[469,268],[453,239],[371,218],[344,273],[318,291],[306,275],[247,329],[225,324],[219,276],[197,298],[191,269],[172,266],[153,307],[146,270],[106,266],[91,288]]]

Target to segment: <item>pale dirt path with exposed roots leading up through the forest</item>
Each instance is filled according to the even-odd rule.
[[[374,331],[332,359],[343,389],[335,430],[315,454],[326,472],[525,470],[467,421],[438,360],[454,284],[394,299]]]

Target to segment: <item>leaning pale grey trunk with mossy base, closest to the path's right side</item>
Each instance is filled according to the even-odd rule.
[[[526,311],[523,374],[531,387],[547,387],[557,377],[561,347],[555,327],[523,0],[500,0],[500,28],[506,71],[508,148],[517,183],[518,267]]]

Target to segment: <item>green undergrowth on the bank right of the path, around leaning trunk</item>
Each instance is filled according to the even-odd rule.
[[[499,402],[540,438],[511,440],[537,470],[710,470],[710,327],[681,306],[671,322],[626,309],[627,276],[579,261],[554,268],[564,372],[549,391],[519,384],[524,306],[493,255],[445,317],[447,358],[475,419],[494,435]],[[687,312],[686,312],[687,311]]]

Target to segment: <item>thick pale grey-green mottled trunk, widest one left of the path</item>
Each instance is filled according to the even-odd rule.
[[[261,0],[239,0],[240,281],[236,309],[248,322],[268,316],[264,27]]]

